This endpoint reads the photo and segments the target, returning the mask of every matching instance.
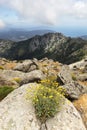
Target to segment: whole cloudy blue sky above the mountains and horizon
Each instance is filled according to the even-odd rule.
[[[0,29],[51,29],[87,34],[87,0],[0,0]]]

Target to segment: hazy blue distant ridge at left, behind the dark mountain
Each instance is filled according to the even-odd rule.
[[[35,35],[43,35],[48,32],[53,32],[52,30],[20,30],[20,29],[10,29],[10,30],[1,30],[0,39],[12,40],[12,41],[22,41],[27,40]]]

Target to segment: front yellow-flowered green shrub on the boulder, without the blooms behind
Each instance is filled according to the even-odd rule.
[[[61,103],[63,103],[63,96],[53,88],[44,87],[39,84],[33,94],[28,94],[28,98],[32,98],[35,107],[36,116],[44,123],[48,118],[60,111]],[[31,96],[30,96],[31,95]]]

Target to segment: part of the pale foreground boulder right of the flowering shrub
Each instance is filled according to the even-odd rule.
[[[86,130],[79,113],[68,100],[62,110],[46,122],[46,127],[47,130]]]

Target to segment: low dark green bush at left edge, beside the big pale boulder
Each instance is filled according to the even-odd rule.
[[[5,98],[11,91],[13,91],[14,88],[9,86],[1,86],[0,87],[0,100]]]

